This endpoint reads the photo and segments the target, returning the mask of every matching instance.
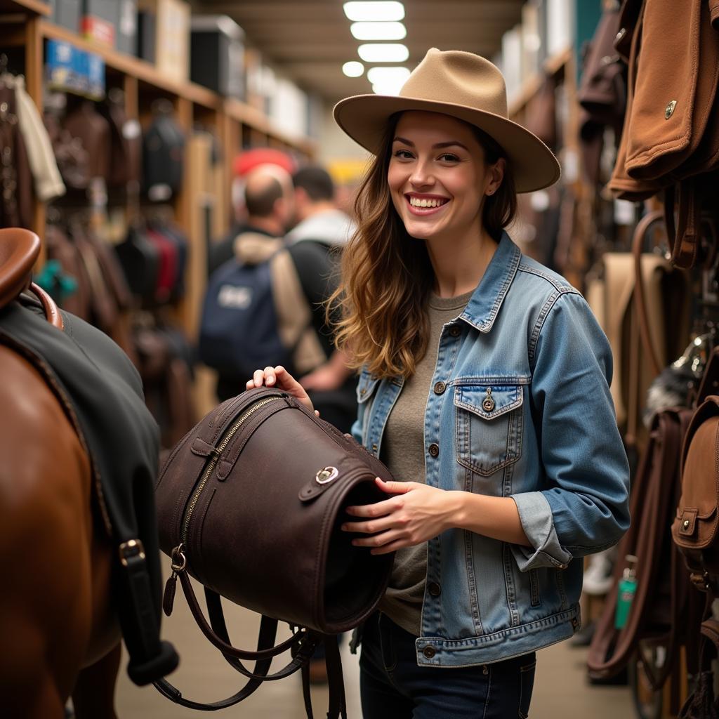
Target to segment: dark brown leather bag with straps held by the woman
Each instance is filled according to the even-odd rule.
[[[180,704],[217,709],[244,699],[263,680],[303,669],[311,716],[307,665],[316,644],[365,620],[389,580],[393,555],[353,546],[354,535],[340,529],[349,518],[344,508],[386,498],[377,476],[390,479],[377,458],[275,388],[249,390],[198,423],[175,446],[157,481],[160,547],[173,558],[163,606],[169,614],[179,578],[205,636],[249,682],[211,705],[183,699],[164,680],[157,688]],[[205,586],[210,624],[190,575]],[[220,595],[263,615],[256,652],[229,643]],[[298,631],[273,646],[278,620]],[[328,716],[344,716],[334,636],[325,646]],[[288,649],[293,659],[268,676],[272,657]],[[241,659],[255,659],[254,671]]]

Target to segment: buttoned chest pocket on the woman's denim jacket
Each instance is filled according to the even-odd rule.
[[[488,477],[521,456],[523,386],[458,385],[457,462]]]

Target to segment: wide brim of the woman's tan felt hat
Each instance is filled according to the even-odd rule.
[[[377,155],[390,115],[421,110],[439,112],[479,127],[498,142],[512,164],[516,191],[533,192],[553,185],[562,170],[557,157],[528,129],[500,115],[464,105],[411,97],[354,95],[334,106],[336,123],[366,150]]]

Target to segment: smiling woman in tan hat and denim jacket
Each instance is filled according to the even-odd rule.
[[[399,96],[334,116],[375,155],[344,249],[339,347],[359,376],[354,437],[395,481],[347,508],[396,552],[362,631],[371,719],[526,717],[535,651],[580,628],[587,554],[629,525],[609,344],[580,293],[505,227],[559,163],[507,117],[498,68],[429,50]],[[282,367],[247,388],[311,401]]]

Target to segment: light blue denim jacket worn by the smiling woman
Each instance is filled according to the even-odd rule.
[[[431,539],[418,664],[461,667],[572,636],[586,554],[629,526],[612,355],[584,298],[503,234],[447,323],[424,416],[426,482],[511,497],[531,546],[450,529]],[[352,434],[379,456],[401,377],[362,371]]]

